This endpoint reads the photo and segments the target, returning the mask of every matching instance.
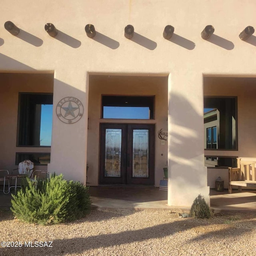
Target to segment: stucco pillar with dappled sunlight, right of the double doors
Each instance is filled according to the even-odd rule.
[[[187,70],[168,78],[168,205],[210,204],[204,167],[203,77]]]

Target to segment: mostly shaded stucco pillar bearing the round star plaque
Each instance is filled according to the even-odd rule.
[[[86,72],[76,72],[70,68],[55,71],[52,147],[51,160],[48,164],[49,172],[62,173],[65,179],[78,180],[84,184],[86,183],[88,77]],[[70,119],[71,121],[68,121]]]

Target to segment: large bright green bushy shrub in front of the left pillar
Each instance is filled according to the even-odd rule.
[[[90,210],[88,187],[80,182],[67,181],[63,175],[52,175],[50,179],[26,180],[26,186],[12,195],[11,210],[26,222],[57,224],[81,218]]]

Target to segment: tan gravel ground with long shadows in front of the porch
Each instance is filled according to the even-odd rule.
[[[76,222],[39,226],[0,209],[0,231],[0,241],[22,242],[22,247],[0,248],[0,256],[256,256],[255,212],[197,220],[168,210],[94,209]],[[25,241],[34,246],[36,241],[52,241],[52,247],[25,247]]]

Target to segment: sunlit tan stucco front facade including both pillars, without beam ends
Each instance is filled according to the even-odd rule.
[[[0,71],[54,71],[54,109],[66,96],[84,104],[84,115],[75,124],[63,124],[53,116],[48,170],[85,182],[88,74],[170,74],[168,204],[190,206],[199,193],[209,202],[204,167],[203,76],[256,76],[255,37],[247,42],[238,37],[246,26],[256,26],[254,0],[205,0],[204,4],[187,0],[65,0],[61,4],[2,0],[1,4]],[[21,28],[17,37],[4,29],[8,20]],[[56,38],[44,31],[47,22],[53,22],[59,30]],[[88,23],[98,32],[94,39],[84,32]],[[135,28],[132,40],[124,37],[127,24]],[[170,40],[162,37],[168,24],[175,28]],[[215,32],[206,41],[200,33],[208,24]],[[244,139],[246,135],[239,142],[248,144]],[[246,146],[240,150],[245,154]]]

